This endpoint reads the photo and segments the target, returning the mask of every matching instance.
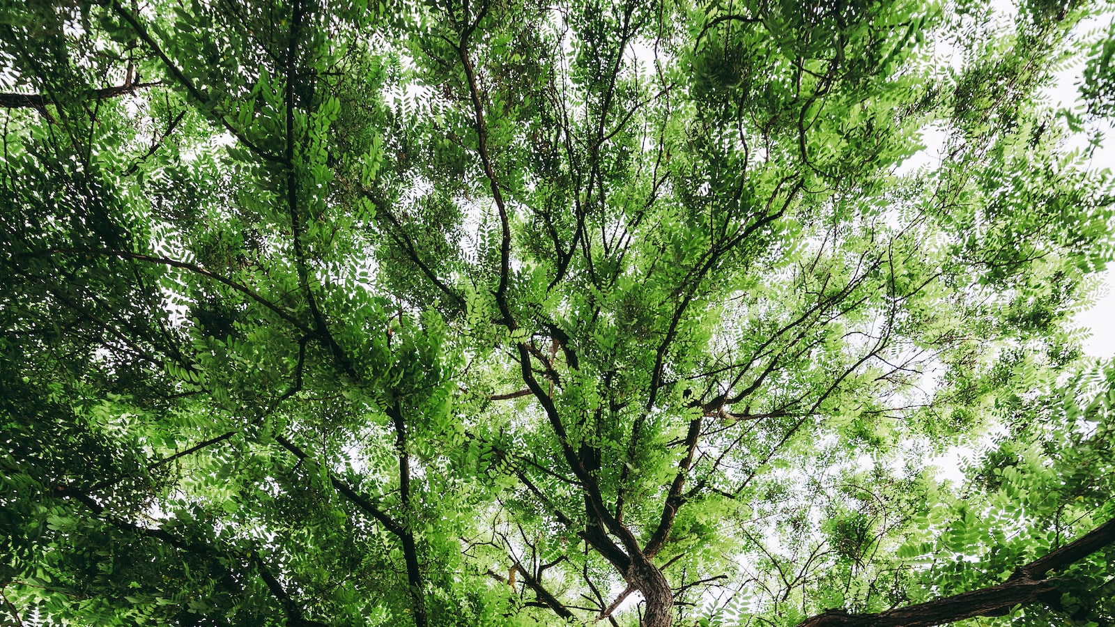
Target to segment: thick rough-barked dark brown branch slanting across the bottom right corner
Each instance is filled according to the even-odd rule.
[[[976,616],[1005,616],[1018,605],[1056,606],[1060,601],[1060,590],[1055,579],[1046,579],[1046,573],[1072,566],[1112,542],[1115,542],[1115,519],[1020,566],[1002,583],[878,614],[828,610],[806,619],[798,627],[932,627]]]

